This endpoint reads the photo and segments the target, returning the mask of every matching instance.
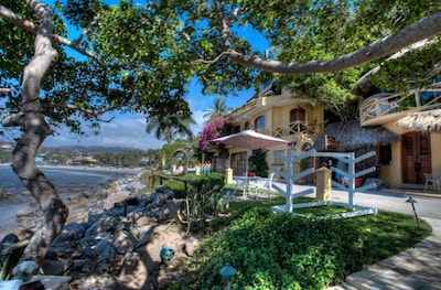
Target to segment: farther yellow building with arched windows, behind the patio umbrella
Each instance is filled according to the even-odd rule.
[[[312,105],[310,99],[295,98],[287,89],[275,92],[272,86],[250,98],[232,115],[235,116],[237,122],[236,131],[251,129],[290,142],[289,146],[266,148],[269,150],[267,163],[279,169],[282,169],[284,164],[275,159],[275,151],[281,154],[286,154],[290,148],[308,151],[324,126],[322,105]],[[245,173],[247,153],[249,157],[252,152],[246,152],[245,148],[229,148],[229,167],[234,175]]]

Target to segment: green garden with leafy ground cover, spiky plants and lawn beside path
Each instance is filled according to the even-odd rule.
[[[144,176],[146,178],[146,176]],[[415,217],[379,211],[353,218],[315,218],[347,208],[302,208],[302,216],[272,213],[284,198],[227,201],[224,175],[186,174],[200,179],[200,190],[183,191],[176,180],[165,182],[176,198],[184,198],[183,226],[189,235],[203,235],[198,250],[173,269],[178,281],[169,289],[324,289],[368,265],[391,257],[431,233]],[[312,198],[295,198],[294,203]],[[228,205],[228,206],[227,206]],[[297,210],[295,210],[297,211]],[[220,275],[229,264],[232,277]]]

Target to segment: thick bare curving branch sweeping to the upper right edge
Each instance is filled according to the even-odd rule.
[[[437,36],[440,33],[441,11],[435,11],[392,35],[378,40],[353,53],[348,53],[329,61],[283,63],[279,61],[261,58],[255,55],[244,55],[234,50],[228,50],[224,54],[228,55],[233,63],[238,63],[248,67],[256,67],[272,73],[286,75],[332,73],[378,60],[391,53],[398,52],[401,49],[410,46],[419,41]]]

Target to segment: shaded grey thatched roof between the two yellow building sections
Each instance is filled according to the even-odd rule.
[[[314,143],[318,151],[326,151],[326,139],[335,139],[336,149],[332,151],[354,150],[364,146],[391,144],[399,136],[380,126],[361,127],[359,121],[349,120],[326,126]]]

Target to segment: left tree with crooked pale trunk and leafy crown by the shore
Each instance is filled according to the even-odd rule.
[[[31,0],[0,6],[0,29],[7,31],[0,39],[0,87],[12,90],[6,101],[10,115],[2,125],[23,132],[12,152],[12,168],[44,213],[22,259],[39,264],[68,214],[34,162],[52,128],[65,123],[78,133],[84,125],[98,129],[99,122],[108,121],[100,116],[110,110],[162,115],[184,104],[191,72],[183,58],[185,37],[176,36],[179,19],[162,3],[144,9],[125,1],[111,7],[82,0],[56,4],[54,10]],[[73,41],[63,18],[79,30]],[[67,55],[65,47],[77,57]],[[190,115],[185,109],[181,112]]]

